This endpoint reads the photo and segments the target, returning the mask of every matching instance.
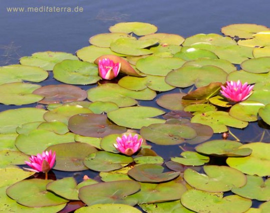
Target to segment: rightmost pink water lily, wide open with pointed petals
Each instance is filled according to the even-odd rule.
[[[226,86],[221,86],[222,90],[220,90],[221,94],[225,96],[229,101],[232,102],[240,102],[246,100],[251,94],[254,85],[247,85],[245,82],[243,85],[238,80],[235,81],[227,81]]]

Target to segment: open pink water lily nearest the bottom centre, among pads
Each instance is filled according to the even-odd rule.
[[[113,145],[118,151],[126,155],[132,155],[141,147],[143,139],[141,138],[138,140],[137,134],[135,134],[133,137],[131,134],[129,134],[128,136],[123,135],[122,138],[117,137],[116,141],[117,144],[114,143]]]

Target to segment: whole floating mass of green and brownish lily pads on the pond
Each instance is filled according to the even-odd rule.
[[[138,22],[109,31],[91,37],[76,56],[38,52],[0,67],[0,103],[27,105],[0,112],[0,211],[52,213],[77,200],[87,206],[76,213],[142,212],[137,204],[149,213],[268,213],[269,137],[247,144],[210,138],[258,119],[270,125],[269,29],[236,24],[223,27],[224,36],[186,39]],[[121,64],[116,80],[98,75],[104,60]],[[48,85],[49,72],[62,83]],[[252,94],[232,103],[220,93],[228,81],[246,82]],[[176,87],[190,91],[167,92]],[[157,92],[167,93],[155,99]],[[140,105],[154,99],[159,108]],[[132,156],[116,144],[127,135],[142,144]],[[165,162],[152,143],[196,146]],[[90,169],[100,180],[34,178],[52,168],[52,152],[53,169]],[[30,155],[33,168],[38,158],[47,160],[32,171],[17,166]],[[213,158],[226,162],[211,165]],[[252,200],[262,204],[251,207]]]

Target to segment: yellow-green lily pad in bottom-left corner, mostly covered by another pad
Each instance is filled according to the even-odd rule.
[[[20,212],[20,213],[57,213],[66,206],[66,203],[55,206],[27,207],[21,205],[16,200],[6,194],[7,187],[0,188],[0,211],[2,212]]]

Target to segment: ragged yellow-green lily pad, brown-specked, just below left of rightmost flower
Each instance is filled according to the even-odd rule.
[[[213,129],[214,133],[228,131],[226,126],[244,128],[248,125],[247,122],[233,118],[227,112],[223,111],[208,111],[196,114],[191,118],[191,122],[208,125]]]

